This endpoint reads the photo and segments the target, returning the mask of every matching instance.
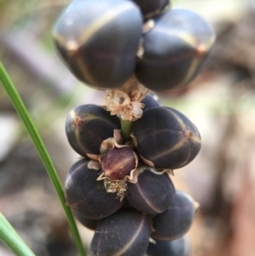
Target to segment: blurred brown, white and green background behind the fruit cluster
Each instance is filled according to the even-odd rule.
[[[77,105],[103,105],[105,97],[78,82],[55,53],[52,26],[68,3],[0,0],[0,60],[63,183],[78,159],[65,138],[65,117]],[[200,203],[189,232],[192,256],[254,256],[255,1],[178,0],[173,7],[195,10],[217,35],[201,75],[187,88],[158,94],[201,132],[199,156],[173,176],[176,188]],[[0,211],[37,256],[77,255],[54,188],[2,87]],[[78,226],[88,247],[93,232]],[[0,255],[14,254],[0,242]]]

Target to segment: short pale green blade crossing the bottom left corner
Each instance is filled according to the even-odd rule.
[[[0,238],[17,256],[36,256],[0,213]]]

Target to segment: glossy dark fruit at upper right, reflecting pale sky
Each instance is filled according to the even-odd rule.
[[[207,22],[184,9],[172,9],[155,19],[144,35],[144,55],[135,74],[154,91],[183,88],[201,71],[214,35]]]

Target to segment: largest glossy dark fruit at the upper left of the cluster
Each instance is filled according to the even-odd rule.
[[[54,26],[65,64],[94,88],[115,88],[133,75],[143,19],[124,0],[75,0]]]

